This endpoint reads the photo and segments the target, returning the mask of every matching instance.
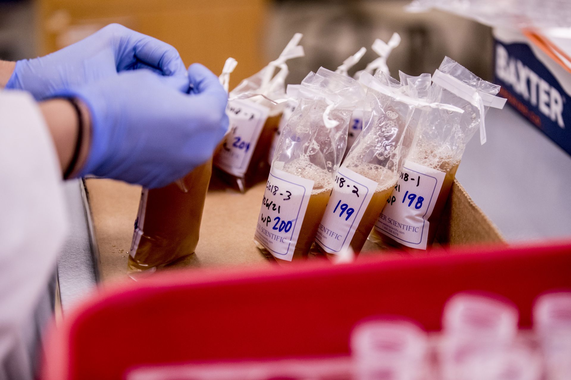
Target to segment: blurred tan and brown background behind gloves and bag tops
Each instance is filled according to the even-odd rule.
[[[402,42],[388,59],[398,70],[434,72],[444,55],[492,79],[489,27],[442,11],[407,13],[410,0],[0,0],[0,59],[44,55],[117,22],[175,46],[184,62],[215,73],[238,60],[231,88],[277,58],[296,32],[305,57],[291,61],[288,83],[320,66],[335,70],[361,46],[368,51],[349,74],[376,58],[371,45]]]

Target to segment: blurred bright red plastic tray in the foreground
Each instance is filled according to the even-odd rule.
[[[444,303],[462,290],[509,298],[528,328],[539,294],[570,288],[570,242],[167,272],[105,289],[67,315],[50,334],[43,378],[122,379],[141,365],[348,354],[362,318],[393,314],[439,330]]]

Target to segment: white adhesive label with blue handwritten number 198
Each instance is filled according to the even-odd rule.
[[[411,248],[427,249],[432,215],[446,174],[406,161],[375,229]]]

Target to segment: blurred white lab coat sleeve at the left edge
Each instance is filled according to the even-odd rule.
[[[0,379],[26,369],[31,316],[67,232],[61,169],[31,95],[0,91]]]

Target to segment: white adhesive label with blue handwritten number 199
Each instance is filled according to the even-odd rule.
[[[349,247],[377,185],[351,169],[341,167],[337,171],[333,191],[315,237],[325,252],[338,254]]]

